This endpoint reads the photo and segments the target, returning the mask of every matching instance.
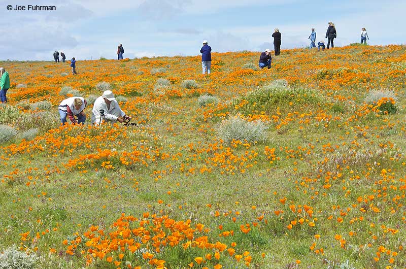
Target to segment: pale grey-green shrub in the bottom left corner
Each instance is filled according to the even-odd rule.
[[[35,254],[27,255],[16,246],[0,252],[0,269],[33,269],[37,261],[38,257]]]

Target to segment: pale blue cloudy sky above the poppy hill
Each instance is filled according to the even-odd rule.
[[[15,11],[16,5],[56,6],[56,11]],[[335,23],[336,46],[359,42],[365,27],[374,45],[405,44],[397,0],[0,0],[0,60],[199,55],[202,40],[215,52],[273,49],[274,28],[281,48],[309,45],[311,27],[325,40]]]

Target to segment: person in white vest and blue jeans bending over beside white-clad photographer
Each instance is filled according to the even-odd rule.
[[[66,117],[69,116],[69,119],[73,124],[79,123],[84,124],[86,120],[86,114],[83,112],[87,103],[83,97],[70,97],[64,99],[59,105],[59,115],[60,122],[64,124],[66,122]],[[76,118],[78,120],[76,120]]]

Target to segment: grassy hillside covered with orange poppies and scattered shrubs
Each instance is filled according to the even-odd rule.
[[[39,268],[406,268],[406,46],[12,62],[0,252]],[[100,84],[101,83],[101,84]],[[138,126],[90,124],[110,88]],[[83,96],[86,124],[60,126]]]

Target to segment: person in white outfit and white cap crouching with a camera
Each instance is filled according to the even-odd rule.
[[[94,101],[91,118],[92,124],[99,124],[105,121],[112,124],[117,121],[123,123],[125,118],[129,117],[121,110],[112,91],[104,91],[103,95]]]

